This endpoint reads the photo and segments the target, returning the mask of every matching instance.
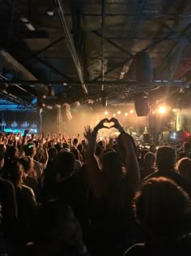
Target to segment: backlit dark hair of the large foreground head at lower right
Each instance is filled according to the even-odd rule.
[[[164,177],[146,180],[134,198],[140,223],[158,239],[181,236],[191,229],[191,201],[174,181]]]

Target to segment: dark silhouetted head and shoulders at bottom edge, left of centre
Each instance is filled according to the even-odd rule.
[[[40,209],[39,227],[32,256],[89,255],[79,221],[71,207],[64,202],[45,202]]]

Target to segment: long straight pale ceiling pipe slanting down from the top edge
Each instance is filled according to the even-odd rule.
[[[87,86],[85,85],[85,82],[83,80],[83,72],[82,68],[79,62],[79,56],[76,52],[75,46],[74,46],[74,41],[70,33],[70,29],[68,28],[68,25],[66,24],[66,19],[65,19],[65,14],[64,14],[64,8],[61,0],[57,0],[58,4],[58,14],[60,16],[60,20],[62,23],[62,28],[64,30],[64,33],[66,35],[66,44],[68,46],[68,49],[70,50],[70,54],[72,56],[72,59],[74,61],[74,65],[76,67],[76,70],[79,75],[79,80],[83,88],[83,92],[87,94]]]

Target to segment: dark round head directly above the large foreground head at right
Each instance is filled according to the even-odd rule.
[[[170,146],[163,146],[156,152],[156,167],[159,171],[170,171],[175,167],[176,151]]]

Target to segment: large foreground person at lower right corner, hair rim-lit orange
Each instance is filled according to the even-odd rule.
[[[164,177],[143,182],[134,210],[145,234],[125,256],[191,255],[191,201],[174,181]]]

